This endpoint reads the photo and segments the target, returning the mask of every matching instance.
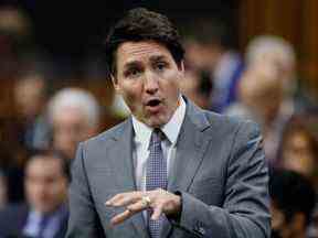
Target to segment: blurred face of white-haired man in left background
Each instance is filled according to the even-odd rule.
[[[88,139],[96,131],[81,109],[61,110],[53,118],[53,148],[67,159],[73,159],[78,142]]]

